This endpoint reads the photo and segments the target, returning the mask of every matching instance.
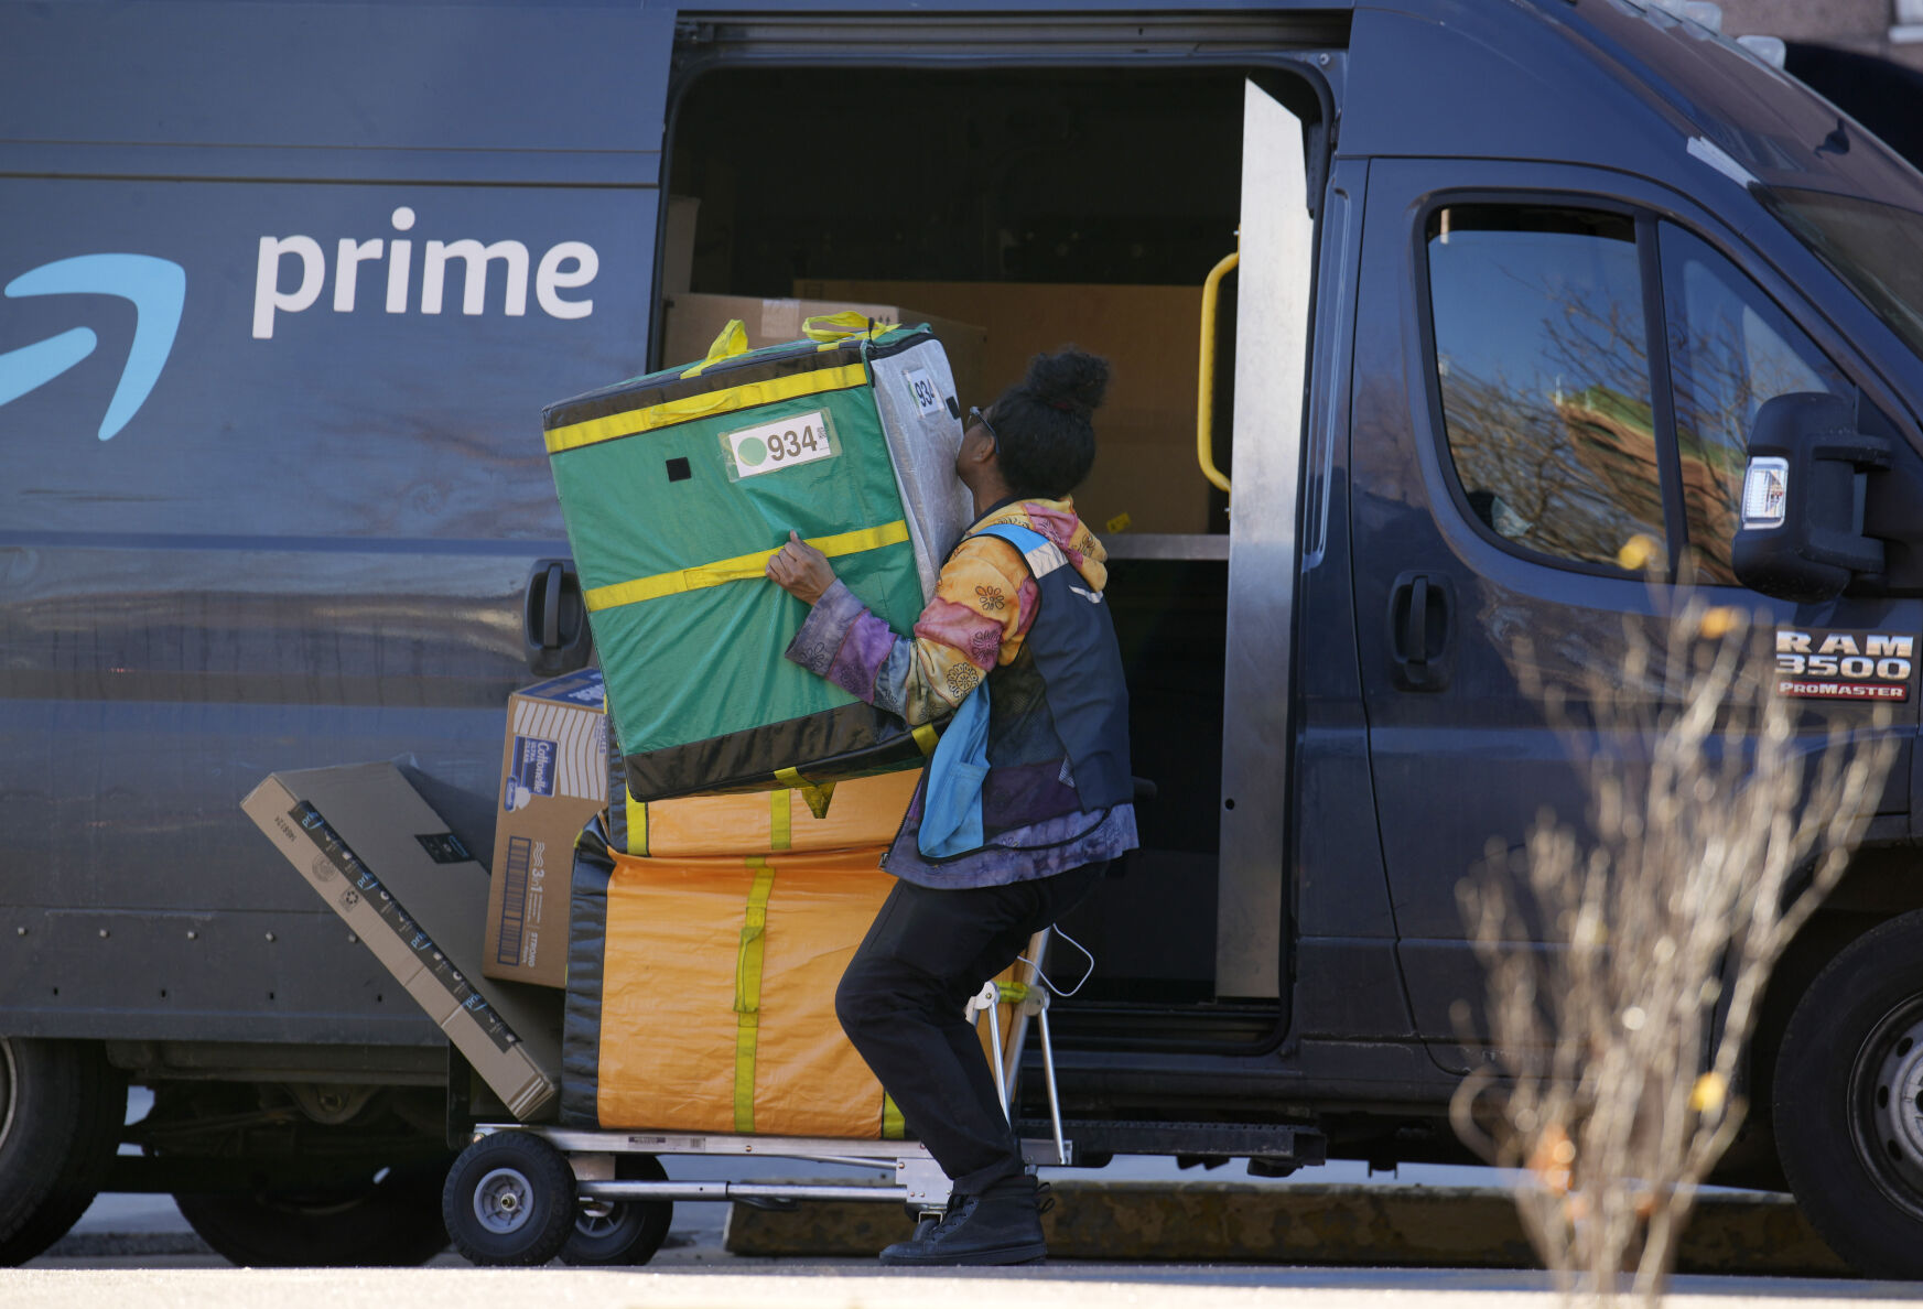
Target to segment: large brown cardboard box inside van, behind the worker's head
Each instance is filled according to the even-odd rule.
[[[794,294],[913,304],[981,323],[985,390],[963,408],[986,408],[1021,381],[1031,356],[1067,344],[1106,356],[1113,375],[1094,417],[1094,471],[1075,490],[1083,521],[1096,536],[1227,527],[1211,525],[1210,484],[1196,465],[1198,286],[798,281]],[[1217,461],[1227,444],[1229,432],[1217,434]]]

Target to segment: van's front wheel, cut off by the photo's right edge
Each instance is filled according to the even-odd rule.
[[[1773,1099],[1783,1173],[1829,1247],[1867,1276],[1923,1278],[1923,911],[1810,984]]]

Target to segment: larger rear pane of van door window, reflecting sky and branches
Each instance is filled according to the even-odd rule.
[[[1442,423],[1469,509],[1560,561],[1665,557],[1635,219],[1454,206],[1429,219],[1427,246]]]

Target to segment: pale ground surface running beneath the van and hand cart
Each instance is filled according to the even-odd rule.
[[[131,1115],[146,1111],[135,1094]],[[675,1176],[742,1176],[744,1161],[671,1159]],[[815,1165],[752,1165],[758,1174],[819,1176]],[[846,1173],[846,1171],[842,1171]],[[1177,1169],[1171,1159],[1123,1159],[1108,1171],[1058,1171],[1069,1178],[1115,1178],[1133,1184],[1194,1182],[1215,1176],[1248,1186],[1240,1167]],[[1233,1174],[1233,1178],[1231,1178]],[[838,1180],[850,1180],[840,1176]],[[1260,1186],[1442,1192],[1465,1182],[1488,1186],[1481,1169],[1404,1169],[1369,1176],[1363,1165],[1306,1169],[1296,1178]],[[1050,1259],[1027,1269],[888,1271],[871,1257],[744,1257],[729,1253],[729,1207],[675,1205],[675,1226],[646,1269],[473,1269],[442,1253],[425,1269],[233,1269],[187,1226],[165,1196],[102,1196],[75,1230],[25,1269],[0,1271],[6,1309],[100,1309],[102,1303],[138,1309],[227,1309],[271,1303],[275,1309],[475,1309],[529,1305],[540,1309],[981,1309],[985,1297],[1023,1309],[1090,1309],[1090,1305],[1154,1305],[1156,1309],[1548,1309],[1563,1303],[1554,1282],[1523,1269],[1433,1267],[1286,1267],[1233,1261],[1115,1263],[1108,1259]],[[744,1247],[740,1232],[733,1246]],[[1677,1309],[1736,1309],[1738,1305],[1883,1305],[1913,1301],[1923,1286],[1840,1278],[1677,1276],[1667,1303]]]

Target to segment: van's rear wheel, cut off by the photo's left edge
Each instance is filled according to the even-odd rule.
[[[0,1038],[0,1267],[94,1203],[127,1121],[127,1076],[88,1042]]]

